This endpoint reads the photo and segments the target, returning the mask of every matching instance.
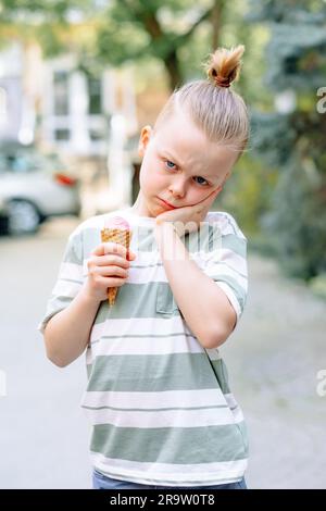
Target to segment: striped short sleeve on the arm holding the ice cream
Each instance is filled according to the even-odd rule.
[[[37,329],[43,334],[49,320],[65,309],[83,286],[82,233],[75,229],[66,244],[57,282],[49,297],[46,313]]]

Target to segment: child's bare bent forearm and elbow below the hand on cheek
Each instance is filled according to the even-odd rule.
[[[203,348],[222,345],[237,315],[222,289],[192,261],[171,222],[155,226],[156,241],[175,300]]]

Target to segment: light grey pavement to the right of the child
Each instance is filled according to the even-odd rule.
[[[250,434],[251,488],[326,488],[326,303],[249,258],[249,296],[222,353]]]

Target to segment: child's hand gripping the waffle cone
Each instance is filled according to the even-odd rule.
[[[108,298],[109,287],[121,287],[128,278],[129,261],[136,254],[115,242],[103,242],[96,247],[87,261],[88,274],[84,292],[87,298],[102,301]]]

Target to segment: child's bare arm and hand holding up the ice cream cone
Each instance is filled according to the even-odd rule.
[[[129,258],[135,259],[130,251]],[[108,287],[125,284],[129,265],[126,248],[120,244],[101,244],[95,249],[88,260],[88,277],[83,288],[45,328],[47,356],[55,365],[64,367],[83,353],[99,304],[108,299]]]

